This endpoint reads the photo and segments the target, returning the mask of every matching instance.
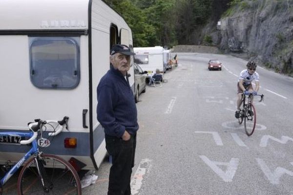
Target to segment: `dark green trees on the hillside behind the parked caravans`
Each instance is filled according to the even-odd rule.
[[[104,0],[132,29],[133,46],[190,44],[219,5],[230,0]],[[235,3],[238,0],[232,0]],[[216,11],[214,11],[215,9]],[[221,10],[220,10],[221,11]]]

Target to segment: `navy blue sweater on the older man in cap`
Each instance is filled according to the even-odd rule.
[[[112,66],[97,87],[97,119],[105,134],[122,137],[125,130],[135,134],[138,130],[137,110],[133,92],[120,71]]]

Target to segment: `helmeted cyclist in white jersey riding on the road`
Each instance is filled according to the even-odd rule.
[[[240,114],[240,106],[242,103],[242,93],[245,91],[248,91],[252,93],[253,95],[256,95],[259,90],[259,76],[258,73],[255,72],[256,69],[256,63],[254,61],[249,61],[246,65],[247,69],[241,71],[239,80],[237,83],[237,110],[235,112],[235,117],[239,118]],[[254,80],[255,82],[255,89],[253,90],[251,82]],[[253,100],[253,97],[251,98],[251,102]],[[253,113],[251,113],[253,115]]]

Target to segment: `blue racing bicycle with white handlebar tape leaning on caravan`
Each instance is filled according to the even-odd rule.
[[[67,129],[68,117],[63,120],[36,119],[34,123],[28,123],[31,130],[25,132],[0,132],[1,137],[28,137],[21,140],[21,145],[29,145],[29,151],[11,168],[5,167],[6,173],[0,178],[0,195],[3,193],[3,185],[22,166],[17,181],[18,195],[81,195],[81,182],[74,167],[63,158],[39,151],[38,138],[42,138],[42,132],[50,125],[53,128],[48,136],[56,136]],[[56,124],[56,125],[54,125]],[[32,156],[30,158],[30,156]]]

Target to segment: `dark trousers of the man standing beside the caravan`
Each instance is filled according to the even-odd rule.
[[[136,134],[128,141],[105,135],[106,149],[112,157],[108,195],[131,195],[130,177],[134,166]]]

